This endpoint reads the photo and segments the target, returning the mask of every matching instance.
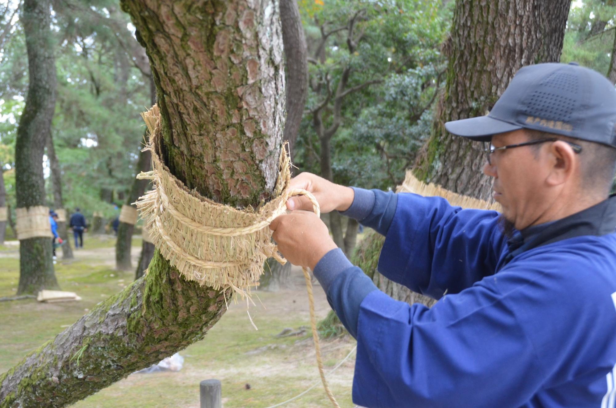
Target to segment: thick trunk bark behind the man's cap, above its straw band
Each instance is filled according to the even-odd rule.
[[[418,162],[419,179],[490,200],[479,143],[452,136],[444,123],[485,115],[519,68],[558,62],[570,0],[458,0],[445,42],[447,84],[431,137]]]

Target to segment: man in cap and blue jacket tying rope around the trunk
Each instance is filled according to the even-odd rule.
[[[293,211],[270,228],[282,255],[312,268],[357,338],[355,404],[615,406],[615,124],[616,90],[602,75],[530,65],[487,116],[445,124],[487,144],[484,173],[502,213],[314,174],[291,181],[323,212],[383,234],[379,272],[439,300],[410,306],[380,292],[306,198],[288,201]]]

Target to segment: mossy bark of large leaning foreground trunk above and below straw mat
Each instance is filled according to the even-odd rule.
[[[163,149],[188,188],[235,206],[271,197],[284,118],[278,5],[123,0],[156,81]],[[225,293],[148,274],[0,376],[0,407],[63,407],[200,340]]]

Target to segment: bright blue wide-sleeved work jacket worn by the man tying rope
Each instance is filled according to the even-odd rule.
[[[614,210],[612,200],[599,212]],[[355,404],[615,406],[614,225],[609,234],[548,240],[508,259],[495,211],[461,210],[415,194],[398,194],[394,207],[381,231],[378,270],[439,301],[411,306],[367,291],[356,315]],[[377,208],[368,218],[381,220],[383,213]],[[347,268],[328,289],[347,324],[354,315],[344,296],[351,300],[357,288],[345,295],[339,282],[350,282],[344,276],[358,269]]]

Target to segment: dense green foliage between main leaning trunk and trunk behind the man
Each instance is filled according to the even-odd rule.
[[[342,99],[340,125],[331,139],[334,181],[392,187],[402,180],[428,135],[439,72],[444,70],[439,49],[450,7],[415,0],[355,0],[308,8],[301,7],[312,61],[307,107],[314,110],[327,99],[328,82],[335,94],[345,73],[346,89],[357,88]],[[354,17],[351,48],[347,40]],[[342,30],[328,36],[323,52],[318,52],[322,32],[338,28]],[[325,128],[336,123],[335,110],[332,98],[320,113]],[[304,116],[296,165],[320,173],[314,115]]]

